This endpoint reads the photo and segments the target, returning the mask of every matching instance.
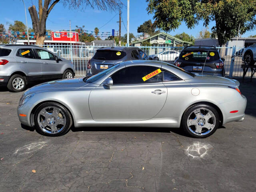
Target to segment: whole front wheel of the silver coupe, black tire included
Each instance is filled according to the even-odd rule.
[[[45,136],[62,136],[73,124],[70,112],[61,104],[47,102],[40,105],[34,115],[35,129]]]

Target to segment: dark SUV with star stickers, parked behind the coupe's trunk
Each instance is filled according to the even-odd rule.
[[[225,76],[224,59],[214,46],[186,46],[174,64],[193,73]]]

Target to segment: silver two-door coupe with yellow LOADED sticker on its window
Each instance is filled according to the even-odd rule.
[[[18,105],[22,124],[46,136],[73,125],[183,128],[205,138],[218,127],[244,120],[246,98],[239,82],[195,76],[166,62],[134,60],[94,76],[56,80],[24,92]]]

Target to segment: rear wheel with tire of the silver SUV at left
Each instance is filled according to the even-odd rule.
[[[7,88],[11,92],[21,92],[26,89],[27,80],[26,77],[16,74],[10,77]]]

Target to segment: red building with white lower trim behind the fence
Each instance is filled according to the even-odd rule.
[[[76,31],[51,31],[46,32],[46,38],[44,40],[45,45],[80,45],[79,34]],[[17,40],[16,44],[28,44],[28,40]],[[30,45],[36,44],[36,40],[29,40]]]

